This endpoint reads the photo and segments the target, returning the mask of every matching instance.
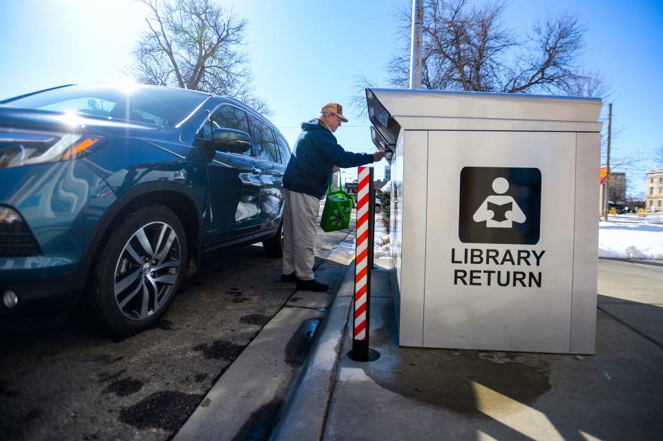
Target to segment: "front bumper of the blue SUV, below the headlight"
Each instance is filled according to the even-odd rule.
[[[115,194],[80,160],[0,169],[0,204],[19,213],[38,244],[32,256],[0,255],[0,317],[45,315],[72,308],[84,290],[84,252]],[[89,259],[88,259],[89,260]]]

